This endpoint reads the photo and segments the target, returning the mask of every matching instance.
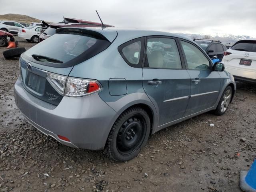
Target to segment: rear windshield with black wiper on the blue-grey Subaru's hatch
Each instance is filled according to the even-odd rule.
[[[95,56],[109,45],[110,42],[100,36],[66,32],[47,38],[26,51],[24,56],[43,65],[68,67]]]

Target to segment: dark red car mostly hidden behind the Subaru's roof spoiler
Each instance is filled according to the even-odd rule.
[[[82,20],[82,19],[66,18],[66,17],[64,17],[64,21],[61,23],[53,23],[49,25],[50,26],[39,36],[40,42],[54,35],[55,30],[61,27],[101,27],[102,26],[101,23]],[[114,26],[104,24],[104,27],[114,27]]]

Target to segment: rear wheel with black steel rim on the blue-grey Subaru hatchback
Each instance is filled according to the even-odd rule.
[[[150,134],[150,118],[140,107],[124,111],[108,136],[105,154],[116,161],[135,158],[146,145]]]

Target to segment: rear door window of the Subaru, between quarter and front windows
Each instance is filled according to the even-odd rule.
[[[145,67],[181,69],[180,54],[174,39],[148,38]]]

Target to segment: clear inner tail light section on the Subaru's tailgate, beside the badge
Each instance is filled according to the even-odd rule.
[[[66,76],[48,73],[46,79],[59,94],[64,95]]]

